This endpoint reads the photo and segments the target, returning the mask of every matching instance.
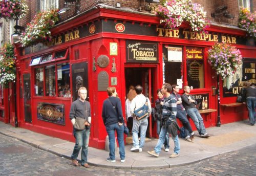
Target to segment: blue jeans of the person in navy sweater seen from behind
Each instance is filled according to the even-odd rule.
[[[123,141],[123,130],[124,126],[119,126],[118,123],[114,123],[111,125],[106,126],[106,132],[109,135],[109,142],[110,142],[110,159],[115,160],[115,131],[117,134],[117,141],[119,145],[119,155],[121,160],[125,159],[125,151],[124,151],[124,141]]]

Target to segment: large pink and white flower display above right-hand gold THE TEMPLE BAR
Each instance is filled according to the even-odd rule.
[[[210,25],[203,7],[191,0],[160,0],[160,4],[153,6],[152,12],[163,17],[160,23],[165,23],[168,28],[178,28],[183,21],[187,21],[193,31],[206,32]]]

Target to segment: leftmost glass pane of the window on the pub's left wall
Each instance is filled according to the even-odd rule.
[[[44,95],[44,68],[35,69],[35,95]]]

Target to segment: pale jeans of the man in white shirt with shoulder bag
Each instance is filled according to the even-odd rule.
[[[142,120],[133,119],[133,146],[136,148],[142,148],[146,138],[147,118]],[[140,141],[139,141],[139,129],[140,129]]]

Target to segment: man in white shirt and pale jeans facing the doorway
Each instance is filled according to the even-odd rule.
[[[133,129],[132,129],[133,147],[131,148],[131,151],[141,152],[145,143],[148,121],[147,121],[147,118],[144,118],[142,120],[137,120],[135,118],[134,111],[142,107],[146,103],[146,99],[147,99],[148,117],[149,117],[151,114],[151,103],[150,103],[150,100],[142,94],[141,85],[136,85],[135,92],[137,96],[132,100],[132,103],[131,103],[131,115],[133,116]],[[140,129],[140,141],[139,141],[139,129]]]

